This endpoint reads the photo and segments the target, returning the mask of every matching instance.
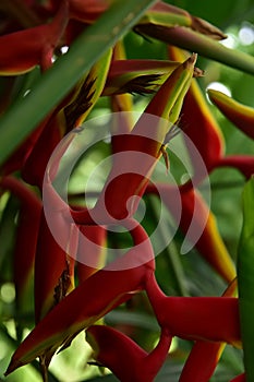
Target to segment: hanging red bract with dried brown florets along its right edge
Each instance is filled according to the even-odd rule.
[[[62,235],[60,247],[41,214],[35,258],[35,319],[41,320],[55,305],[73,288],[73,256],[76,254],[77,236],[61,218],[56,223]]]

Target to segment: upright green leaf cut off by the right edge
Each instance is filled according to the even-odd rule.
[[[254,177],[243,191],[243,227],[238,254],[240,323],[246,382],[254,381]]]

